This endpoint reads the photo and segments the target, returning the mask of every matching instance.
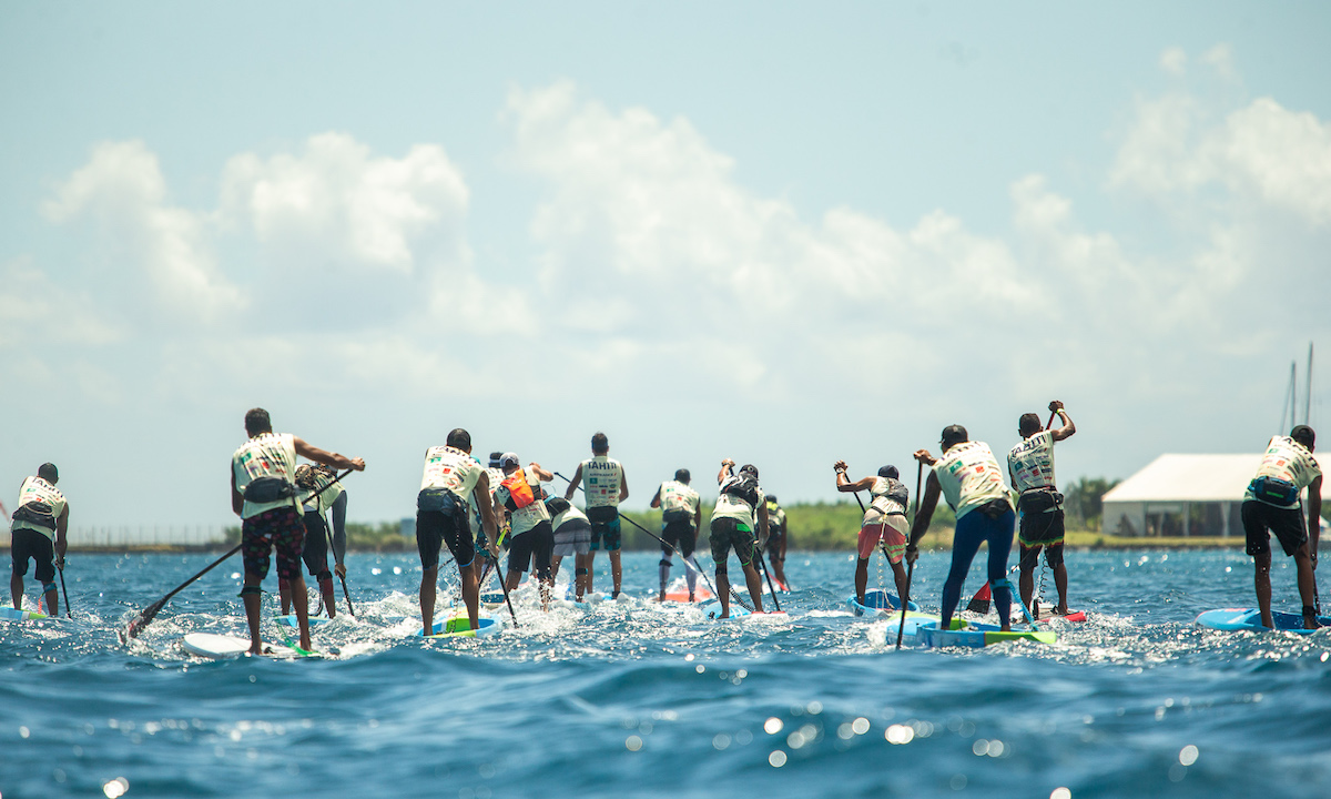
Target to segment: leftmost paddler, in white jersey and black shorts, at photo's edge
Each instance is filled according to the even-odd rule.
[[[60,615],[60,593],[56,590],[56,569],[65,567],[65,531],[69,529],[69,502],[56,489],[60,471],[55,463],[43,463],[37,474],[28,477],[19,487],[19,505],[9,525],[9,595],[13,609],[23,601],[23,575],[28,574],[28,561],[37,565],[37,582],[47,597],[47,614]]]

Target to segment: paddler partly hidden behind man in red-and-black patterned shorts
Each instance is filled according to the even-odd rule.
[[[305,522],[305,546],[301,559],[310,577],[319,586],[323,607],[329,618],[337,617],[337,598],[333,595],[333,573],[346,577],[346,489],[337,474],[323,463],[301,463],[295,467],[295,487],[301,490],[301,511]],[[325,514],[333,511],[333,571],[329,571],[329,525]],[[278,578],[277,589],[282,599],[282,615],[291,609],[291,583]]]

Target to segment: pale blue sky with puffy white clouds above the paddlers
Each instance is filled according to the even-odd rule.
[[[0,4],[0,502],[230,523],[244,414],[414,513],[453,427],[628,507],[1255,453],[1331,360],[1320,3]],[[1311,422],[1328,418],[1314,365]],[[908,483],[909,477],[906,478]],[[3,487],[8,486],[8,487]],[[912,486],[913,487],[913,486]]]

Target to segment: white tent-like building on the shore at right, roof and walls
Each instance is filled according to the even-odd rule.
[[[1109,535],[1243,535],[1239,507],[1262,454],[1166,454],[1105,494]]]

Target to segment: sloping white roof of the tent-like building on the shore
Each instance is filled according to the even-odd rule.
[[[1262,454],[1165,454],[1105,494],[1105,502],[1239,502]]]

